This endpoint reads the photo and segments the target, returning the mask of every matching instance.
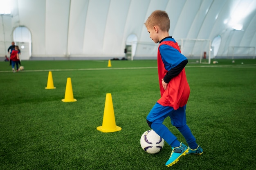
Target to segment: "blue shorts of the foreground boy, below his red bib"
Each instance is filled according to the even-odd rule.
[[[153,123],[162,124],[167,117],[171,118],[171,124],[175,127],[181,127],[186,124],[186,105],[174,110],[170,106],[162,106],[156,103],[148,113],[147,120]]]

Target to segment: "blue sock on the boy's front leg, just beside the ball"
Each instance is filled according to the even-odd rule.
[[[164,125],[159,123],[152,123],[151,128],[162,137],[171,147],[179,147],[180,141],[177,140],[177,137],[171,133],[171,131]]]

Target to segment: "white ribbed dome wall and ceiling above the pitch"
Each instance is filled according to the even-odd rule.
[[[0,44],[25,26],[33,57],[122,57],[129,35],[154,43],[144,22],[157,9],[168,13],[175,39],[220,36],[218,56],[256,47],[256,0],[13,0],[11,15],[0,18]]]

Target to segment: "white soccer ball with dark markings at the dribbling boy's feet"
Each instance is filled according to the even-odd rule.
[[[151,129],[141,135],[140,146],[147,153],[158,153],[164,147],[164,139]]]

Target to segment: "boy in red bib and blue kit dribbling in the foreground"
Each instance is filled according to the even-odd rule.
[[[146,20],[145,26],[150,38],[155,43],[159,42],[157,68],[161,92],[161,98],[148,113],[147,123],[171,146],[171,156],[165,165],[172,166],[183,155],[203,153],[186,124],[185,110],[190,88],[184,67],[188,60],[180,53],[175,40],[169,36],[170,20],[165,11],[154,11]],[[177,137],[162,124],[168,116],[171,118],[171,124],[182,133],[189,147],[178,141]]]

